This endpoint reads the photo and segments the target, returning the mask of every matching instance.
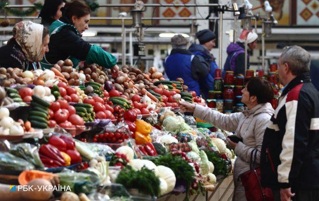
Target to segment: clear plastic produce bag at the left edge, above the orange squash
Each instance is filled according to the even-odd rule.
[[[24,171],[33,169],[35,169],[34,165],[25,159],[0,151],[0,170]]]

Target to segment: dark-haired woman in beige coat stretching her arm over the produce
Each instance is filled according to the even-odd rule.
[[[253,77],[241,91],[241,102],[247,105],[243,112],[222,114],[202,105],[180,102],[184,112],[194,112],[194,117],[207,121],[227,131],[235,131],[242,142],[235,143],[227,138],[228,144],[238,156],[234,168],[234,201],[246,201],[245,189],[239,175],[248,171],[251,151],[257,149],[257,166],[260,164],[264,132],[274,110],[269,103],[273,98],[273,89],[266,80]]]

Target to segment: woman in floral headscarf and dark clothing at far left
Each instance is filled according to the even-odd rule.
[[[49,51],[49,31],[43,25],[22,21],[14,25],[13,37],[0,48],[0,67],[36,70]]]

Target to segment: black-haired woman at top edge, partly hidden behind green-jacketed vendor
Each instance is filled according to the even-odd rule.
[[[45,0],[40,11],[41,25],[49,26],[62,17],[61,8],[65,5],[66,0]]]

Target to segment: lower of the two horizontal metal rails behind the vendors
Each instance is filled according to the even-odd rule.
[[[18,17],[18,16],[0,16],[0,19],[30,19],[30,20],[41,20],[38,17]],[[132,20],[132,18],[123,18],[124,20]],[[122,20],[118,17],[90,17],[90,20]],[[176,17],[176,18],[162,18],[162,17],[144,17],[142,20],[206,20],[205,18],[186,18],[186,17]],[[209,18],[207,20],[219,20],[219,18]],[[234,18],[224,18],[223,20],[234,20]]]

